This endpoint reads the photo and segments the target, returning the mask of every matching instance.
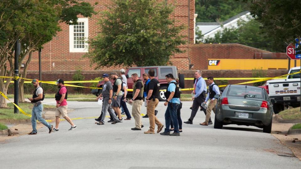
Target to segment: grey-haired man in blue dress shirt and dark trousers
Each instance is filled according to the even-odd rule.
[[[190,118],[188,121],[185,121],[186,124],[193,124],[193,118],[198,112],[198,108],[205,101],[207,85],[205,80],[202,78],[202,72],[200,70],[195,71],[194,77],[196,78],[194,83],[194,93],[195,95],[192,97],[193,105]]]

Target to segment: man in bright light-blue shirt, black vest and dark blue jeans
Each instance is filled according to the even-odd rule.
[[[164,103],[165,106],[167,105],[167,109],[165,112],[166,128],[164,132],[160,134],[165,136],[180,136],[179,123],[177,119],[177,110],[180,105],[180,89],[171,73],[167,74],[165,76],[165,79],[168,82],[167,90],[166,92],[164,92],[164,95],[167,98],[166,102]],[[174,132],[172,134],[170,134],[169,130],[171,120],[174,125]]]

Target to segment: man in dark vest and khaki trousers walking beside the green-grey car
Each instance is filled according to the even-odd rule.
[[[200,123],[200,125],[208,125],[208,121],[209,121],[209,118],[210,118],[210,115],[211,115],[211,110],[213,110],[213,112],[215,113],[215,105],[216,105],[217,99],[214,98],[214,95],[220,95],[219,86],[216,85],[213,82],[213,77],[210,76],[207,79],[208,79],[207,82],[209,84],[209,91],[207,93],[207,97],[206,97],[206,100],[204,101],[204,104],[206,104],[206,102],[209,99],[210,99],[210,102],[209,102],[209,104],[207,106],[207,109],[206,109],[206,119],[205,119],[205,122]]]

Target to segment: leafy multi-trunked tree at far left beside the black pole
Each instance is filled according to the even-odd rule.
[[[32,52],[42,48],[49,42],[57,31],[60,31],[59,22],[76,24],[77,15],[91,17],[93,7],[79,0],[2,0],[0,2],[0,76],[12,76],[13,47],[19,39],[21,54],[19,56],[19,69],[26,60],[24,72],[21,77],[26,77],[26,70],[31,60]],[[10,70],[8,70],[9,63]],[[4,83],[7,80],[8,83]],[[0,79],[0,90],[6,95],[11,79]],[[24,101],[24,80],[20,82],[20,101]],[[6,100],[0,97],[0,107],[7,107]]]

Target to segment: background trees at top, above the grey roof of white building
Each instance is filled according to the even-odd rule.
[[[237,0],[195,0],[197,22],[225,21],[248,10],[247,3]]]

